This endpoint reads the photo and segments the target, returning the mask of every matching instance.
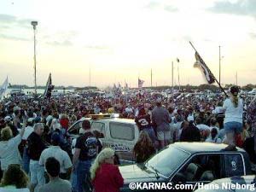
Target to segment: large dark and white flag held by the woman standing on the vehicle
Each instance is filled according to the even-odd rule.
[[[194,67],[199,67],[204,73],[205,78],[207,79],[208,84],[213,84],[215,82],[215,77],[213,76],[210,69],[207,67],[205,61],[202,60],[201,56],[195,51],[195,64]]]

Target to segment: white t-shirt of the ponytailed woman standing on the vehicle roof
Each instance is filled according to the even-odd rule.
[[[243,105],[242,105],[241,99],[238,99],[238,105],[237,105],[237,108],[235,108],[230,98],[227,98],[224,101],[223,108],[226,110],[224,123],[233,122],[233,121],[242,123]]]

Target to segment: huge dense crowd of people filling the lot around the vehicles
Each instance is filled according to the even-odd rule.
[[[77,139],[68,135],[68,127],[90,113],[135,120],[140,130],[133,148],[137,163],[170,143],[208,142],[226,143],[226,150],[245,148],[256,164],[256,97],[241,99],[236,86],[230,97],[213,99],[148,94],[10,98],[0,102],[0,191],[119,191],[124,179],[118,157],[102,146],[90,121],[83,121]]]

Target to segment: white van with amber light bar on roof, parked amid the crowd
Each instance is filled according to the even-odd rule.
[[[132,164],[132,149],[137,143],[139,129],[134,119],[118,118],[117,114],[113,115],[90,115],[91,118],[82,118],[68,128],[68,133],[72,138],[79,137],[79,129],[82,122],[90,120],[91,131],[100,138],[103,147],[113,148],[118,154],[121,164]]]

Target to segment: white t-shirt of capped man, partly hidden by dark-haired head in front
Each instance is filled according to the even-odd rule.
[[[72,166],[70,157],[66,151],[60,148],[60,146],[50,146],[49,148],[45,148],[40,156],[39,165],[44,166],[49,157],[55,157],[55,159],[60,162],[61,173],[66,173],[67,169]]]

